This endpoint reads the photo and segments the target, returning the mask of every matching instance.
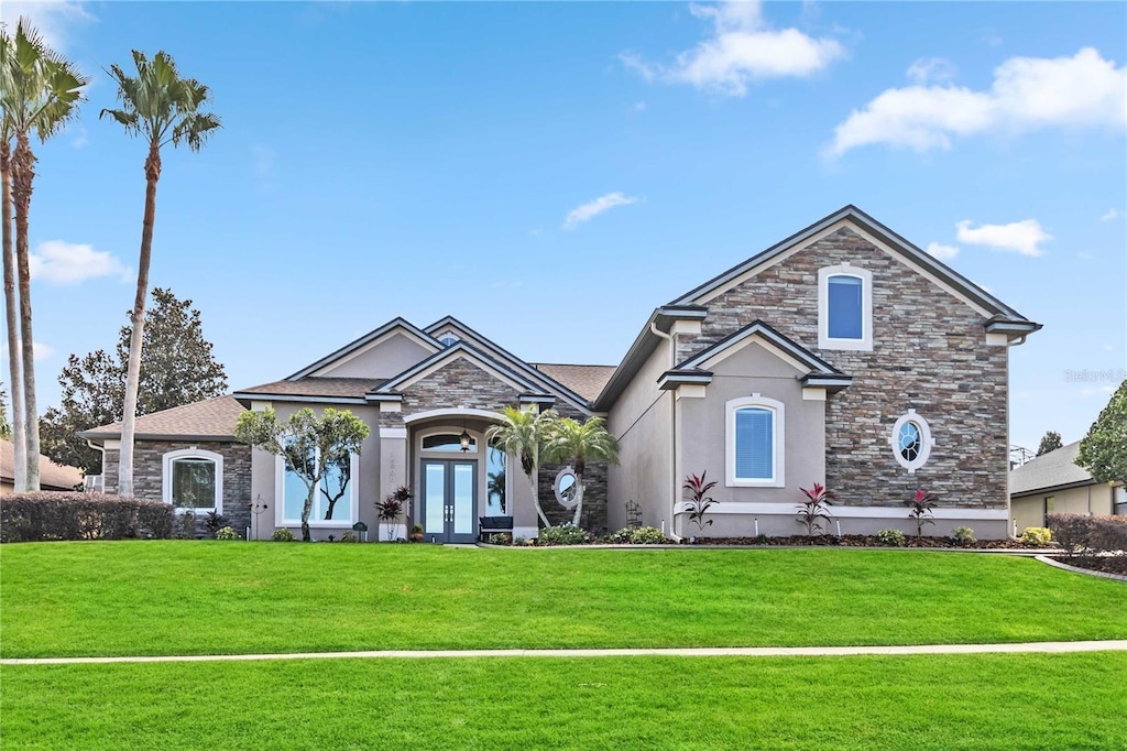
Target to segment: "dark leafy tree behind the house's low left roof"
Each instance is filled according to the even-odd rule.
[[[179,407],[227,391],[227,372],[204,338],[199,311],[171,290],[152,291],[153,308],[144,328],[137,414]],[[126,313],[128,315],[128,313]],[[131,326],[123,326],[117,347],[83,357],[72,354],[62,373],[62,400],[39,423],[43,453],[89,474],[101,471],[101,453],[76,436],[80,431],[122,419]]]

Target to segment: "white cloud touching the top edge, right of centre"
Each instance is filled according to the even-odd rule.
[[[690,83],[742,97],[752,80],[805,78],[845,55],[845,47],[834,38],[814,38],[797,28],[770,28],[760,2],[694,3],[690,10],[712,23],[712,34],[680,53],[672,64],[649,63],[632,53],[619,59],[647,81]]]

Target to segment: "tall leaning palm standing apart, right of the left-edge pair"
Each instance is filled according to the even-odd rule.
[[[137,410],[137,385],[141,380],[141,347],[144,336],[144,306],[149,290],[149,262],[152,256],[152,228],[157,219],[157,182],[160,179],[160,149],[171,142],[199,151],[207,136],[220,127],[215,115],[201,112],[208,104],[211,90],[192,78],[181,78],[171,55],[161,51],[150,61],[143,52],[133,51],[136,77],[126,76],[118,65],[109,67],[117,83],[121,109],[103,109],[130,135],[149,142],[144,160],[144,220],[141,224],[141,259],[137,263],[137,289],[133,302],[133,334],[130,338],[130,362],[125,373],[125,405],[122,410],[121,465],[117,492],[133,495],[133,434]]]

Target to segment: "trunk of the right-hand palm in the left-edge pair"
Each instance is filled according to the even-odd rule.
[[[27,491],[39,489],[39,418],[35,406],[35,338],[32,334],[32,271],[28,262],[27,226],[35,179],[35,154],[26,133],[16,138],[12,160],[12,194],[16,198],[16,271],[19,280],[19,339],[24,362],[24,433]]]

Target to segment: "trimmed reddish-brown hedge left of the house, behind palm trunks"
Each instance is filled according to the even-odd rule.
[[[0,498],[0,542],[167,539],[175,521],[167,503],[105,493],[21,493]]]

